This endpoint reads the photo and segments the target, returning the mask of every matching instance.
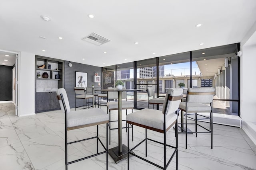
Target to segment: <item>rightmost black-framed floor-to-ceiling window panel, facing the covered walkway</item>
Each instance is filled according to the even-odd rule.
[[[201,72],[198,87],[214,87],[216,90],[214,113],[238,115],[239,75],[236,51],[236,44],[192,51],[192,62],[196,62]]]

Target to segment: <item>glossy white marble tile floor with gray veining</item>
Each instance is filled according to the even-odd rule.
[[[106,111],[106,107],[101,107]],[[129,113],[129,112],[128,112]],[[124,114],[125,116],[125,110]],[[117,119],[117,111],[111,112]],[[114,123],[111,124],[112,127]],[[190,127],[193,129],[193,127]],[[144,129],[134,127],[134,146],[144,137]],[[68,131],[68,141],[74,141],[96,134],[96,127]],[[106,143],[106,125],[100,125],[99,134]],[[123,129],[123,143],[127,145],[127,133]],[[163,135],[148,131],[148,137],[161,141]],[[168,143],[175,145],[174,129],[167,135]],[[96,141],[96,140],[95,140]],[[94,139],[68,146],[68,161],[96,152]],[[188,135],[188,149],[185,149],[185,134],[178,135],[179,170],[255,170],[256,146],[242,129],[214,124],[213,149],[210,149],[210,134]],[[111,131],[111,145],[118,146],[118,131]],[[100,150],[103,150],[100,147]],[[135,152],[144,156],[145,145]],[[167,155],[172,149],[168,148]],[[163,148],[148,142],[147,159],[163,165]],[[175,170],[176,158],[168,170]],[[49,111],[27,117],[16,117],[11,103],[0,104],[0,169],[1,170],[64,170],[64,113]],[[86,159],[68,166],[69,170],[104,170],[106,154]],[[108,156],[109,170],[126,170],[127,159],[118,164]],[[130,157],[130,170],[158,170],[134,156]]]

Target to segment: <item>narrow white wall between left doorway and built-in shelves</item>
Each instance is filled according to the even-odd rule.
[[[35,114],[35,55],[20,52],[18,59],[18,115]]]

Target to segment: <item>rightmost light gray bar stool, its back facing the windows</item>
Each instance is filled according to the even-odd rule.
[[[187,149],[187,135],[188,135],[188,126],[195,125],[195,131],[190,133],[210,133],[211,134],[211,148],[212,148],[212,100],[215,95],[215,89],[213,87],[202,87],[202,88],[188,88],[186,102],[181,102],[179,109],[186,112],[186,127],[182,129],[186,133],[186,149]],[[209,116],[202,115],[200,113],[209,113]],[[194,115],[194,117],[192,117]],[[199,116],[199,117],[198,117]],[[194,120],[195,123],[188,123],[187,117]],[[198,124],[198,120],[209,119],[210,128],[207,129],[202,125]],[[198,126],[204,129],[205,131],[198,131]]]

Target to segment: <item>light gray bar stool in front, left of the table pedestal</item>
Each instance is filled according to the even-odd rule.
[[[80,160],[88,159],[93,156],[106,153],[106,169],[108,169],[108,114],[98,108],[70,111],[70,105],[68,102],[68,96],[64,88],[57,90],[57,97],[60,102],[60,108],[65,113],[65,167],[68,170],[68,164],[78,162]],[[98,125],[106,123],[106,147],[103,145],[102,141],[98,137]],[[95,137],[90,137],[87,139],[82,139],[79,141],[68,142],[68,131],[73,129],[80,129],[84,127],[90,127],[97,125],[97,134]],[[82,142],[86,140],[97,139],[97,150],[96,154],[90,156],[85,156],[77,160],[68,162],[68,145],[72,143]],[[104,151],[98,152],[98,142],[104,148]]]

